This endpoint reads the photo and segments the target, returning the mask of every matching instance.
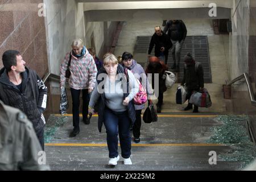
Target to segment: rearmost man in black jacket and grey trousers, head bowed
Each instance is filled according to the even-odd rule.
[[[171,52],[174,59],[174,64],[172,65],[171,69],[176,69],[176,71],[179,71],[181,48],[187,36],[187,28],[185,23],[182,20],[169,20],[164,27],[163,32],[165,32],[171,38],[172,42]]]

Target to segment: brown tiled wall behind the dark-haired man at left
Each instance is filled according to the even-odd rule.
[[[43,0],[0,1],[0,57],[8,49],[18,50],[26,65],[43,77],[48,72],[46,28],[38,15]],[[0,68],[3,67],[0,59]]]

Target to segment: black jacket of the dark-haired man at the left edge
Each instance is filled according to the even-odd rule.
[[[22,92],[9,80],[6,69],[0,71],[0,100],[23,111],[37,133],[45,126],[47,87],[35,71],[26,68],[22,74]]]

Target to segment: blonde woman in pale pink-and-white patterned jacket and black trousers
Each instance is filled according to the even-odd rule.
[[[73,101],[73,131],[70,137],[75,137],[80,132],[79,105],[80,92],[82,92],[82,121],[89,125],[87,118],[89,93],[94,89],[97,75],[97,67],[93,57],[85,48],[81,39],[75,39],[71,45],[72,51],[68,52],[60,66],[60,87],[65,86],[66,71],[69,69],[70,77],[68,84],[71,89]]]

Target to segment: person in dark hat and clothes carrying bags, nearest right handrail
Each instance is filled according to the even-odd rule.
[[[193,57],[190,53],[184,57],[184,76],[181,82],[181,85],[187,87],[187,98],[190,99],[194,91],[199,92],[204,88],[204,71],[203,67],[199,62],[193,60]],[[188,106],[184,110],[193,109],[191,103],[188,103]],[[193,113],[198,113],[198,106],[194,105]]]

